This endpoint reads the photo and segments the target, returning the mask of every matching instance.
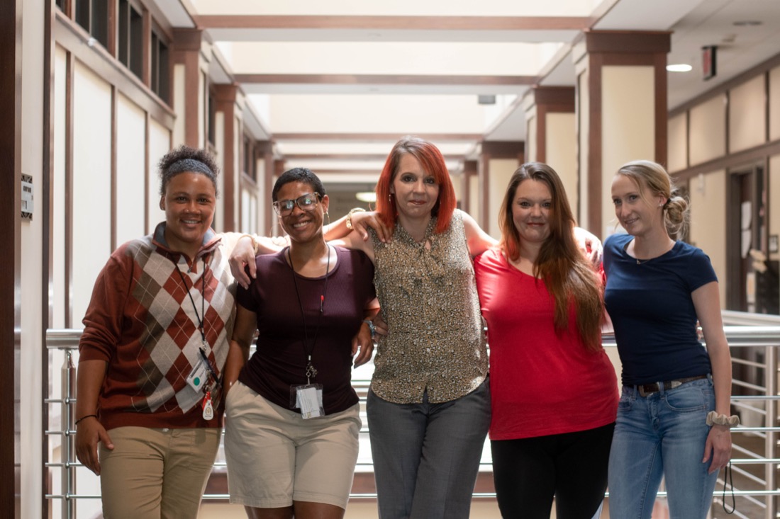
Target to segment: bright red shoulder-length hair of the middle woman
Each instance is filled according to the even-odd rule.
[[[423,170],[428,175],[433,175],[434,180],[439,185],[439,196],[436,205],[431,210],[431,215],[438,217],[434,231],[438,234],[449,228],[449,222],[452,221],[452,212],[455,210],[456,197],[455,188],[452,187],[452,180],[449,178],[447,164],[441,151],[420,137],[406,136],[402,137],[395,146],[392,147],[385,167],[379,175],[377,182],[377,212],[381,221],[389,228],[395,227],[395,221],[398,220],[398,210],[395,207],[395,199],[390,192],[390,186],[398,175],[398,167],[401,163],[401,157],[404,154],[410,154],[420,162]]]

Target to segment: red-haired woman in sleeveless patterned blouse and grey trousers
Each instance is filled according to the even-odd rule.
[[[456,210],[444,157],[424,139],[395,144],[376,191],[392,240],[372,230],[344,242],[374,260],[389,330],[367,401],[380,516],[468,517],[491,416],[472,258],[495,241]]]

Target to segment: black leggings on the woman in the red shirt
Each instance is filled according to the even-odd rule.
[[[504,519],[590,519],[607,489],[615,424],[522,440],[491,440],[493,481]]]

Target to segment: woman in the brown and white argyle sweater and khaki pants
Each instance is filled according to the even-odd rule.
[[[235,315],[237,235],[211,229],[218,173],[205,150],[162,157],[165,221],[120,245],[94,284],[79,343],[76,456],[100,475],[105,517],[198,514],[222,433]]]

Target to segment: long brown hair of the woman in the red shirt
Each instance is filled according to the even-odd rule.
[[[517,188],[527,180],[543,182],[552,196],[550,235],[541,246],[534,262],[534,276],[544,280],[555,301],[555,331],[561,334],[569,328],[569,305],[576,308],[577,330],[590,351],[601,349],[601,323],[604,321],[604,291],[574,238],[576,221],[569,207],[569,199],[561,178],[554,169],[541,162],[520,166],[509,179],[498,226],[501,228],[501,246],[509,260],[520,255],[520,235],[512,219],[512,203]]]

